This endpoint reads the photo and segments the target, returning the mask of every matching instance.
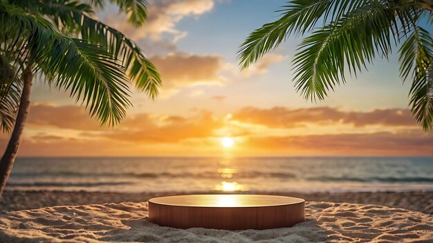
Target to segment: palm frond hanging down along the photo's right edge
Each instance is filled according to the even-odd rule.
[[[400,47],[400,75],[413,78],[410,105],[418,123],[433,131],[433,38],[418,26]]]

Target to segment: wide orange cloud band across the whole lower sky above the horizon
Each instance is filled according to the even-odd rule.
[[[293,134],[291,126],[307,123],[337,128],[351,124],[353,129],[337,134]],[[257,130],[252,124],[268,128]],[[379,125],[379,129],[369,129],[369,125]],[[387,126],[400,129],[387,132]],[[414,126],[408,110],[246,107],[220,118],[210,111],[192,116],[136,114],[111,129],[99,127],[79,107],[35,104],[30,109],[20,154],[215,155],[221,149],[217,138],[230,134],[237,141],[234,151],[243,155],[433,155],[433,137]],[[0,149],[6,142],[6,136],[0,136]]]

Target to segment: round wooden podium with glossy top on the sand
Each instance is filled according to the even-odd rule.
[[[271,195],[181,195],[149,200],[149,221],[174,228],[266,229],[304,222],[305,200]]]

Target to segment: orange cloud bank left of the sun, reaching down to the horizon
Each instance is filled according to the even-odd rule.
[[[99,127],[79,107],[38,104],[31,108],[30,117],[20,155],[185,154],[191,150],[189,143],[212,139],[223,126],[212,112],[204,110],[192,116],[136,114],[114,128]],[[0,134],[0,150],[6,147],[7,138]]]

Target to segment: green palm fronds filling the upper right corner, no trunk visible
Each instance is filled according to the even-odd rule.
[[[279,11],[280,19],[241,44],[242,69],[289,35],[308,33],[293,59],[293,81],[304,98],[323,100],[347,71],[357,75],[400,46],[400,76],[412,79],[412,113],[433,131],[433,0],[292,0]]]

